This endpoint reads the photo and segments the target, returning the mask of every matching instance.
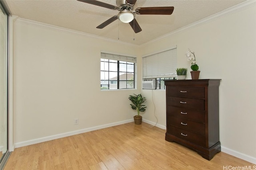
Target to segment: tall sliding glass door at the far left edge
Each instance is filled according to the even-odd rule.
[[[8,151],[8,15],[0,10],[0,160]],[[1,167],[0,167],[1,168]]]

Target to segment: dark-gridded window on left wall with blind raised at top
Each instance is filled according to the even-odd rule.
[[[134,88],[136,58],[101,53],[101,90]]]

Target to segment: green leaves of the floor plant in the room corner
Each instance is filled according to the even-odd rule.
[[[140,111],[145,111],[146,106],[143,103],[146,101],[145,97],[142,97],[141,94],[130,95],[129,100],[132,101],[133,104],[130,104],[132,109],[137,110],[138,116],[140,115]]]

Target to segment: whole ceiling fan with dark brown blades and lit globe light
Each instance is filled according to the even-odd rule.
[[[144,8],[136,8],[133,11],[134,4],[137,0],[116,0],[116,5],[106,4],[104,2],[100,2],[97,0],[78,0],[81,2],[85,2],[88,4],[93,4],[96,6],[101,6],[104,8],[109,8],[111,10],[118,10],[120,11],[118,15],[113,16],[112,18],[106,20],[102,24],[100,24],[96,28],[104,28],[108,24],[112,23],[113,21],[119,19],[124,23],[130,23],[132,29],[135,33],[142,31],[140,25],[135,19],[135,14],[137,15],[171,15],[174,7],[173,6],[166,6],[166,7],[144,7]]]

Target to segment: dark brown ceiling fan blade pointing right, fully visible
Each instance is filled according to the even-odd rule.
[[[174,10],[173,6],[166,6],[166,7],[144,7],[144,8],[137,8],[136,14],[141,15],[171,15]]]

